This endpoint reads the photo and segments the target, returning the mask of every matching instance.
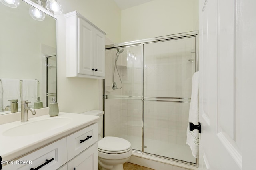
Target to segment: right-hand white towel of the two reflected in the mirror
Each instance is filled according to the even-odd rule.
[[[28,100],[29,107],[34,106],[37,97],[37,80],[23,79],[21,84],[21,99]]]

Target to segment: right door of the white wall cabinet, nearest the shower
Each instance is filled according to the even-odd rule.
[[[94,29],[94,75],[105,77],[105,35]]]

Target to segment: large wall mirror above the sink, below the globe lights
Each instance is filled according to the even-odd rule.
[[[56,97],[56,19],[46,14],[43,21],[34,20],[30,7],[22,0],[17,8],[0,3],[0,79],[21,80],[20,93],[23,79],[38,80],[36,97],[47,107]],[[10,108],[5,111],[2,95],[0,114],[10,113]],[[29,107],[34,107],[36,99],[32,100]]]

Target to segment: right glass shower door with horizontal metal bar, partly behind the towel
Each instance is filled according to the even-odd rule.
[[[196,163],[186,144],[196,38],[144,44],[144,152]]]

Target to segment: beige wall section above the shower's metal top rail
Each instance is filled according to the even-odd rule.
[[[122,42],[198,30],[198,0],[153,0],[122,10]]]

